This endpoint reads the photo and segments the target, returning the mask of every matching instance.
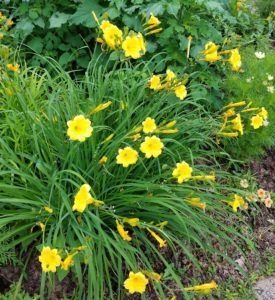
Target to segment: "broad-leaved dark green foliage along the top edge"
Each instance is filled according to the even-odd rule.
[[[185,66],[187,37],[193,37],[191,57],[197,59],[205,43],[222,43],[232,34],[246,36],[266,32],[264,22],[244,5],[237,10],[236,0],[90,1],[72,0],[15,1],[6,5],[15,20],[15,44],[58,60],[67,69],[87,68],[97,36],[97,24],[91,12],[109,18],[120,28],[143,31],[150,14],[157,16],[163,31],[148,37],[145,59],[156,53],[159,70],[165,64]],[[5,6],[4,6],[5,7]],[[173,41],[171,43],[171,41]],[[242,41],[244,42],[244,41]],[[27,50],[29,52],[29,49]],[[29,65],[43,65],[39,56],[27,55]]]

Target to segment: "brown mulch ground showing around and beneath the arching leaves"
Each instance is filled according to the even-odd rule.
[[[257,177],[258,184],[261,188],[268,191],[275,192],[275,149],[269,150],[267,155],[263,160],[255,161],[251,164],[251,172]],[[275,255],[275,232],[274,232],[274,223],[275,223],[275,209],[263,208],[256,217],[249,219],[247,217],[247,222],[253,226],[253,239],[256,244],[256,251],[251,249],[244,249],[244,255],[240,255],[239,252],[236,252],[234,247],[228,246],[226,249],[227,254],[246,272],[255,271],[264,265],[264,257],[261,256],[266,250],[271,251]],[[242,228],[242,230],[246,230]],[[216,242],[214,246],[223,251],[221,245]],[[196,255],[201,270],[195,269],[194,265],[190,263],[190,260],[186,254],[178,247],[176,255],[173,255],[172,251],[165,247],[163,251],[164,257],[167,261],[174,265],[177,269],[185,269],[184,277],[182,278],[182,283],[186,286],[190,283],[190,278],[198,277],[201,282],[209,282],[215,280],[216,282],[224,282],[229,278],[234,278],[239,280],[244,278],[244,275],[240,270],[234,267],[226,259],[217,256],[208,256],[205,257],[204,251],[202,249],[193,248],[191,249],[192,253]],[[209,273],[209,266],[215,266],[214,274]],[[155,271],[163,273],[165,266],[160,261],[155,263]],[[4,293],[9,289],[9,286],[12,282],[17,282],[21,275],[21,269],[19,267],[8,265],[0,267],[0,294]],[[41,267],[40,263],[37,260],[37,257],[34,257],[30,260],[30,263],[27,267],[26,278],[23,280],[23,288],[30,295],[39,294],[40,288],[40,279],[41,279]],[[77,281],[73,278],[73,274],[70,273],[62,282],[56,282],[55,292],[50,296],[50,299],[61,299],[66,295],[68,298],[73,294],[75,289],[75,283]],[[175,283],[173,281],[167,281],[166,284],[170,289],[176,290]],[[183,300],[184,296],[180,292],[175,292],[177,300]],[[168,292],[167,296],[172,296]],[[147,299],[158,300],[158,295],[154,292],[152,287],[148,287],[146,290]],[[128,299],[136,300],[140,299],[140,296],[134,294]],[[216,298],[218,299],[218,298]]]

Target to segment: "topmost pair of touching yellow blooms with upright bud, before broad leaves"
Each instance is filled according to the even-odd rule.
[[[100,28],[100,37],[97,42],[106,44],[111,50],[123,50],[125,57],[138,59],[146,53],[146,44],[142,33],[130,31],[127,35],[122,32],[116,25],[108,20],[99,23],[95,13],[93,17]]]

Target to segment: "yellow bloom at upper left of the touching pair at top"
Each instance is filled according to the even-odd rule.
[[[103,21],[100,28],[103,30],[103,38],[111,49],[116,49],[122,42],[122,31],[109,21]]]

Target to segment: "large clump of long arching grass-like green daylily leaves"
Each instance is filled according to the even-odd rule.
[[[230,186],[234,176],[218,163],[220,158],[228,159],[215,144],[218,118],[194,102],[192,93],[179,101],[172,94],[149,91],[151,74],[144,64],[134,68],[124,64],[107,71],[98,59],[91,62],[83,80],[75,82],[55,62],[48,63],[55,70],[52,75],[30,68],[18,76],[3,74],[2,88],[9,87],[13,95],[3,94],[0,100],[0,228],[10,229],[1,235],[0,242],[12,238],[10,249],[20,245],[22,257],[31,246],[70,251],[86,245],[83,255],[75,256],[72,268],[79,299],[84,294],[84,277],[87,299],[125,299],[123,281],[129,270],[153,271],[157,261],[166,267],[167,277],[183,288],[184,274],[171,268],[149,239],[146,227],[166,239],[173,253],[178,245],[198,269],[194,246],[205,255],[215,253],[234,264],[225,251],[212,244],[219,241],[226,248],[230,243],[241,251],[238,240],[244,239],[239,224],[225,222],[231,209],[221,200],[242,192]],[[109,108],[90,115],[92,108],[109,100]],[[127,103],[126,109],[121,101]],[[94,128],[84,143],[66,136],[66,122],[81,113],[91,119]],[[128,136],[147,116],[157,124],[177,120],[178,133],[160,134],[165,149],[159,158],[146,159],[139,153],[136,165],[117,165],[119,148],[130,145],[139,149],[144,135],[136,142]],[[101,144],[110,134],[113,139]],[[105,166],[98,164],[103,155],[108,157]],[[183,160],[193,167],[194,175],[215,173],[218,180],[177,184],[172,170]],[[89,206],[79,215],[72,211],[72,204],[84,183],[91,185],[92,194],[105,205],[99,209]],[[206,213],[184,201],[187,197],[201,197],[207,203]],[[54,213],[49,216],[44,206],[53,208]],[[133,237],[131,243],[123,241],[115,227],[115,219],[123,217],[141,220],[140,228],[126,227]],[[238,214],[235,220],[242,222]],[[164,229],[155,226],[162,221],[168,221]],[[46,224],[44,233],[37,222]],[[65,275],[58,271],[59,278]],[[51,274],[43,273],[41,299],[46,277],[53,280]],[[165,280],[153,288],[164,297]]]

